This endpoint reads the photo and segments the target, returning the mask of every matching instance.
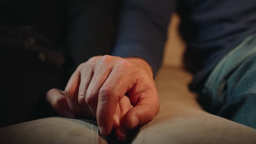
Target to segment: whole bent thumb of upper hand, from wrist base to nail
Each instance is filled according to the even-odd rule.
[[[122,118],[126,129],[134,129],[147,124],[159,112],[158,93],[154,81],[148,79],[145,72],[141,71],[137,77],[134,76],[137,79],[136,84],[126,93],[131,104],[134,105]]]

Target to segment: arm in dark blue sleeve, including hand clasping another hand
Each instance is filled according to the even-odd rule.
[[[159,111],[153,71],[161,63],[173,8],[174,1],[125,1],[113,52],[119,57],[93,57],[77,68],[65,89],[72,113],[89,109],[101,134],[108,135],[118,101],[127,95],[133,107],[119,116],[120,127],[133,129],[152,121]]]

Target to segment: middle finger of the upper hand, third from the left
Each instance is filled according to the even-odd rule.
[[[113,57],[103,56],[95,64],[94,75],[88,86],[85,101],[90,107],[92,113],[96,116],[98,105],[98,94],[103,83],[106,81],[110,71],[112,70]]]

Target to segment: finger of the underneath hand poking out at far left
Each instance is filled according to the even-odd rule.
[[[75,115],[68,107],[66,97],[63,91],[59,89],[50,89],[46,93],[46,101],[53,107],[53,109],[63,117],[74,118]]]

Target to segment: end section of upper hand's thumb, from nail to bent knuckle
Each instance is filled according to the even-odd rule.
[[[137,105],[132,107],[123,117],[126,129],[134,129],[149,123],[159,111],[159,105]]]

